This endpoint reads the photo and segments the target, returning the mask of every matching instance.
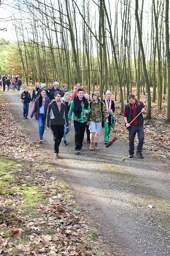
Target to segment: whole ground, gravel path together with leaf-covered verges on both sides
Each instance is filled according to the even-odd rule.
[[[166,115],[154,104],[158,114],[144,124],[144,159],[128,158],[127,132],[106,149],[102,131],[94,152],[85,137],[77,156],[73,125],[54,159],[51,132],[39,145],[38,124],[23,117],[20,94],[0,95],[2,255],[169,256]],[[117,101],[113,137],[124,128]]]

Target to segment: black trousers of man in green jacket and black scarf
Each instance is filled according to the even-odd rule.
[[[83,146],[84,134],[85,134],[86,122],[80,123],[74,120],[74,131],[75,131],[75,149],[80,149]]]

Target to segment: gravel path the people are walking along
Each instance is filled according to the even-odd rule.
[[[28,136],[37,141],[38,123],[22,116],[21,92],[4,92],[10,110]],[[30,103],[30,110],[32,103]],[[29,113],[30,113],[29,110]],[[17,127],[16,127],[17,131]],[[74,151],[74,128],[67,135],[67,146],[61,143],[57,163],[63,177],[76,190],[79,202],[95,220],[100,236],[120,251],[119,255],[170,255],[168,218],[170,207],[169,166],[145,155],[128,158],[128,141],[121,138],[104,148],[103,132],[100,150],[90,151],[84,139],[84,151]],[[51,132],[45,130],[44,150],[53,157]],[[121,161],[125,157],[125,161]],[[57,164],[57,165],[58,165]],[[154,208],[148,208],[152,204]],[[125,254],[124,254],[125,253]]]

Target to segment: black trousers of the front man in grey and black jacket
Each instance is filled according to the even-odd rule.
[[[64,125],[53,125],[51,126],[51,130],[53,132],[54,152],[58,153],[60,142],[64,135]]]

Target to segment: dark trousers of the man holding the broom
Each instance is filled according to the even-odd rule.
[[[142,152],[142,147],[144,143],[144,126],[139,127],[139,125],[131,125],[130,126],[130,131],[129,131],[129,153],[134,154],[134,139],[135,135],[137,133],[138,137],[138,145],[137,145],[137,153]]]

